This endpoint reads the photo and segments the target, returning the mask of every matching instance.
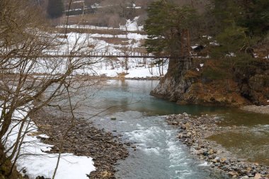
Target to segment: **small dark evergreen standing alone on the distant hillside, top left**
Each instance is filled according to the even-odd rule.
[[[59,18],[64,11],[64,3],[62,0],[49,0],[47,4],[47,13],[50,18]]]

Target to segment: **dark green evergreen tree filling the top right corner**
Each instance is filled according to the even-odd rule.
[[[214,54],[254,57],[253,46],[263,40],[269,30],[269,1],[213,0],[213,5],[216,39],[221,45],[215,48]]]

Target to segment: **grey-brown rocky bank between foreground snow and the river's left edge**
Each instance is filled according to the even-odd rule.
[[[31,117],[38,130],[50,138],[42,139],[54,147],[51,153],[73,153],[93,158],[96,171],[88,178],[115,178],[115,163],[128,156],[125,144],[110,132],[97,129],[84,119],[71,120],[40,110]],[[127,144],[130,145],[130,144]]]

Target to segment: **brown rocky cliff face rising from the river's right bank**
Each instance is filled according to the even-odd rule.
[[[207,73],[212,61],[207,59],[204,63],[205,66],[199,69],[200,62],[195,64],[188,59],[173,62],[173,67],[169,67],[168,73],[151,91],[151,95],[179,104],[269,105],[268,62],[257,62],[250,67],[231,71],[219,69],[229,71],[228,77],[220,76],[217,70]]]

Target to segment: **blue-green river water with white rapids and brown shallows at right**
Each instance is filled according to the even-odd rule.
[[[177,130],[166,125],[164,115],[187,112],[223,117],[222,126],[231,131],[209,139],[227,147],[239,158],[269,164],[269,117],[230,108],[176,105],[149,96],[159,81],[108,80],[86,103],[84,117],[101,112],[91,120],[97,127],[121,136],[130,156],[119,161],[117,178],[227,178],[196,161],[188,148],[176,139]],[[88,114],[88,115],[87,115]],[[115,117],[116,120],[110,120]]]

